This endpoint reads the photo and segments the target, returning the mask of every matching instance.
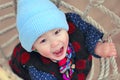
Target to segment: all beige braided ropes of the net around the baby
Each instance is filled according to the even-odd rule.
[[[14,1],[16,1],[16,0],[14,0]],[[113,13],[112,11],[110,11],[109,9],[107,9],[106,7],[104,7],[103,5],[101,5],[104,2],[104,0],[97,0],[97,1],[96,0],[90,0],[89,4],[86,7],[86,9],[85,9],[84,12],[80,11],[76,7],[74,7],[74,6],[66,3],[64,1],[61,1],[61,0],[52,0],[52,1],[55,2],[55,3],[57,3],[58,7],[64,6],[65,8],[67,8],[67,9],[73,11],[73,12],[76,12],[76,13],[82,15],[83,19],[85,19],[87,22],[91,23],[92,25],[96,26],[100,31],[102,31],[102,32],[104,32],[106,34],[104,36],[104,39],[108,38],[108,36],[114,36],[115,34],[117,34],[120,31],[120,18],[119,18],[119,16],[117,16],[115,13]],[[13,1],[8,2],[6,4],[3,4],[3,5],[0,5],[0,10],[8,8],[8,7],[11,7],[13,5],[15,5]],[[87,16],[89,10],[92,7],[97,7],[103,13],[105,13],[108,16],[110,16],[111,19],[113,21],[115,21],[115,24],[118,27],[116,29],[112,30],[111,32],[107,33],[100,24],[98,24],[91,17]],[[8,18],[11,18],[11,17],[14,17],[14,16],[15,16],[14,13],[5,15],[3,17],[0,17],[0,21],[4,21],[4,20],[6,20]],[[16,24],[13,24],[13,25],[16,25]],[[12,29],[12,28],[9,28],[9,29]],[[9,30],[9,29],[4,29],[3,31],[0,31],[0,35],[3,34],[3,33],[5,33],[5,32],[7,32],[7,30]],[[7,44],[3,44],[2,48],[5,48],[9,44],[11,44],[12,41],[14,41],[14,40],[16,40],[16,38],[11,39],[10,42],[8,42]],[[113,66],[113,69],[114,69],[112,75],[109,75],[110,62],[111,62],[112,66]],[[92,66],[92,70],[94,70],[93,68],[94,68],[94,63],[93,63],[93,66]],[[89,80],[92,80],[93,74],[94,74],[94,72],[92,71],[91,74],[90,74]],[[109,78],[109,79],[107,79],[107,78]],[[100,59],[100,73],[99,73],[99,76],[98,76],[98,80],[101,80],[101,79],[104,79],[104,80],[111,80],[111,79],[118,80],[118,78],[120,78],[120,74],[118,73],[118,67],[117,67],[117,63],[116,63],[115,58],[114,57],[111,57],[110,59],[101,58]]]

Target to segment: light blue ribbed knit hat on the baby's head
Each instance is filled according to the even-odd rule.
[[[37,38],[55,28],[68,30],[68,24],[65,14],[50,0],[18,0],[17,30],[24,49],[31,52]]]

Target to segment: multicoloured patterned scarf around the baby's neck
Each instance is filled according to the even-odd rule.
[[[58,61],[59,71],[62,74],[64,80],[70,80],[72,74],[74,73],[74,57],[74,50],[72,48],[72,45],[69,43],[66,51],[66,57]]]

